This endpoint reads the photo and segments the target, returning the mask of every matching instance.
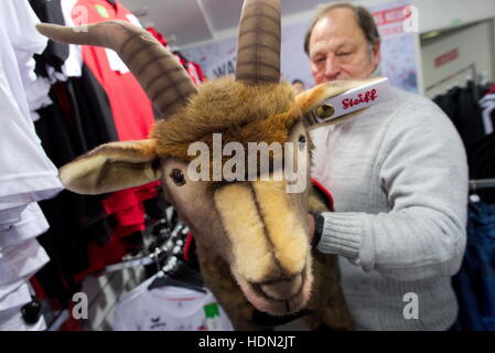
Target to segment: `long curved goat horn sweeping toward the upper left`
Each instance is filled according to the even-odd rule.
[[[196,87],[179,61],[146,30],[121,20],[87,26],[36,25],[40,33],[62,43],[112,49],[136,76],[159,113],[175,113]]]

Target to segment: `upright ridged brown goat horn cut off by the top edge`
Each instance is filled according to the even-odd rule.
[[[239,22],[236,79],[280,79],[280,0],[246,0]]]

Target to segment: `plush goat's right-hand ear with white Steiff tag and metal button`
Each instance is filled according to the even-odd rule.
[[[374,104],[388,100],[388,79],[376,77],[362,81],[329,82],[295,97],[309,129],[354,118]]]

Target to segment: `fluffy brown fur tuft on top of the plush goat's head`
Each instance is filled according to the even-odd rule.
[[[158,121],[151,137],[157,153],[191,161],[192,142],[202,141],[212,150],[212,133],[222,133],[223,145],[232,141],[247,149],[248,142],[283,143],[301,117],[294,114],[294,95],[287,83],[246,85],[233,77],[206,82],[201,94],[169,119]]]

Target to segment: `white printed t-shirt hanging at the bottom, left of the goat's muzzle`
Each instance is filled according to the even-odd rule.
[[[115,331],[207,331],[206,310],[217,313],[217,330],[233,325],[209,290],[206,293],[182,287],[148,290],[155,276],[126,292],[114,313]]]

